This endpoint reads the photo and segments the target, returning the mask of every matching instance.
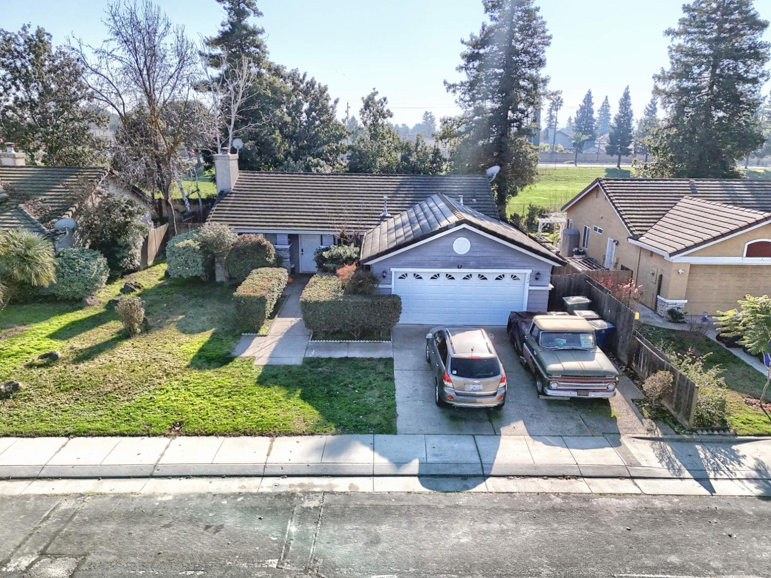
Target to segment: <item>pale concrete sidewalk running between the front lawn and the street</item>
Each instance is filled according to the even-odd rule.
[[[757,480],[771,486],[771,439],[466,434],[0,438],[0,478],[178,476],[582,476]]]

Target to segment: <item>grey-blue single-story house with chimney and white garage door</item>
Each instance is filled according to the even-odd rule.
[[[209,220],[260,233],[294,272],[338,239],[362,242],[362,265],[402,297],[400,323],[503,325],[510,311],[544,310],[553,266],[545,245],[497,218],[487,177],[238,171],[214,155]]]

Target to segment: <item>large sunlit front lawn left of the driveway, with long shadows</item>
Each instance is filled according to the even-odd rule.
[[[0,401],[0,435],[396,433],[392,360],[312,359],[255,367],[230,356],[240,336],[233,288],[165,279],[143,283],[152,328],[128,339],[103,304],[40,299],[0,313],[0,381],[25,384]],[[39,364],[40,353],[60,360]]]

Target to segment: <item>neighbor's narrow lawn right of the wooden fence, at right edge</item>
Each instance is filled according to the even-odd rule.
[[[704,365],[706,368],[719,365],[724,370],[722,377],[729,388],[728,422],[731,427],[736,428],[736,433],[740,435],[771,434],[771,414],[766,414],[744,401],[745,397],[760,397],[766,378],[758,370],[744,363],[724,346],[699,333],[650,325],[640,325],[638,330],[654,345],[663,341],[668,348],[680,353],[688,350],[693,350],[699,356],[712,353],[705,359]]]

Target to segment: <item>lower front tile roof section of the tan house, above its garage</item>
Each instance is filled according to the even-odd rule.
[[[653,248],[677,255],[764,221],[771,211],[754,211],[733,204],[683,197],[638,238]]]

